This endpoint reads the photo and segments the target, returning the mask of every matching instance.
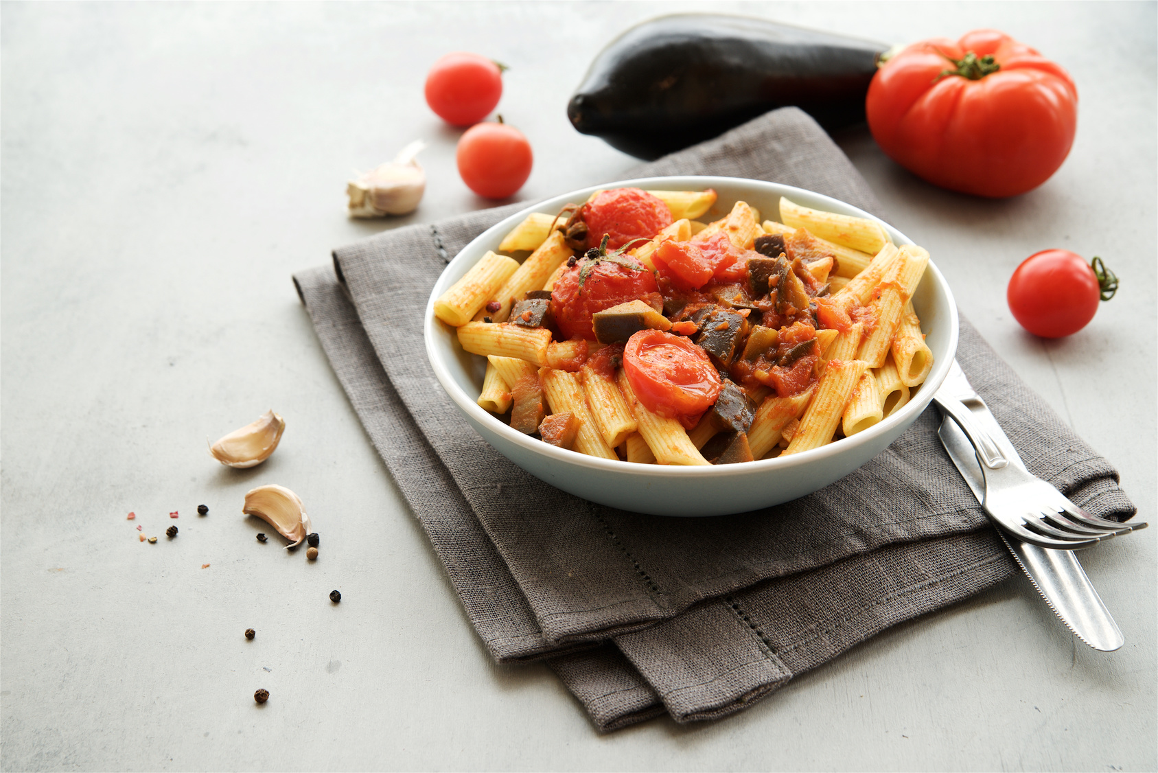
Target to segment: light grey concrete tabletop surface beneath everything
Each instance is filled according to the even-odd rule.
[[[497,668],[475,640],[290,275],[381,228],[488,205],[423,101],[441,53],[511,65],[500,111],[534,145],[532,199],[633,163],[573,132],[566,97],[608,36],[703,7],[0,6],[3,770],[1158,766],[1158,528],[1083,556],[1126,633],[1117,652],[1076,642],[1016,578],[717,723],[600,736],[545,669]],[[963,313],[1155,522],[1156,5],[713,8],[891,42],[995,27],[1072,73],[1073,151],[1013,200],[933,189],[864,131],[840,141]],[[347,220],[351,170],[416,137],[431,145],[418,213]],[[1086,330],[1042,342],[1004,290],[1054,246],[1104,256],[1122,289]],[[267,464],[206,455],[206,438],[271,407],[287,430]],[[241,499],[264,482],[307,503],[316,563],[254,539]],[[138,541],[135,524],[170,523],[177,539]]]

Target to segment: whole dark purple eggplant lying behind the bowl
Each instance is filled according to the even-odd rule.
[[[580,132],[640,159],[797,105],[826,129],[864,121],[888,46],[763,19],[677,14],[603,49],[567,104]]]

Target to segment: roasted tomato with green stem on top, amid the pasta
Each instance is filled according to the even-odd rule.
[[[584,257],[555,280],[551,314],[564,338],[595,340],[592,315],[658,292],[655,277],[643,263]]]

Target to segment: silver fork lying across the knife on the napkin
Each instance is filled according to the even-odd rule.
[[[989,411],[957,362],[933,400],[969,436],[977,452],[985,477],[982,501],[985,512],[994,523],[1018,539],[1040,547],[1072,550],[1145,528],[1145,523],[1120,524],[1086,512],[1056,488],[1031,474],[1020,459],[1011,461],[966,407],[970,404]]]

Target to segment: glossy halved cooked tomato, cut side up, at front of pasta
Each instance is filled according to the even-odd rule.
[[[639,330],[628,340],[623,371],[639,402],[667,418],[704,413],[724,386],[703,349],[662,330]]]

